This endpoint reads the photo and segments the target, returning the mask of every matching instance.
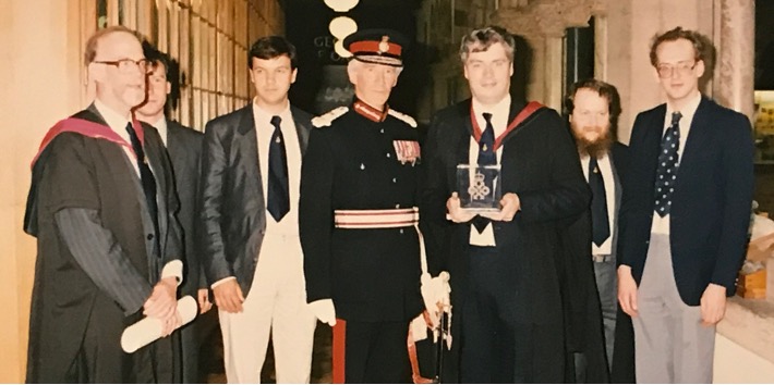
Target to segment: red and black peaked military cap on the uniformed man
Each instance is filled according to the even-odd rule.
[[[344,38],[344,48],[352,58],[365,63],[402,66],[402,51],[409,40],[392,29],[363,29]]]

